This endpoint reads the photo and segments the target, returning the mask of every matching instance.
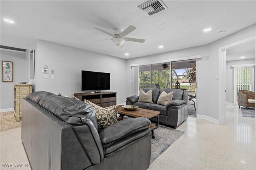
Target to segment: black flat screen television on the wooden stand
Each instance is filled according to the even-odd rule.
[[[110,90],[110,73],[82,70],[82,91]]]

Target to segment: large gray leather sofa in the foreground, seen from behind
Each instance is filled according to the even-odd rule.
[[[33,169],[146,170],[150,121],[118,121],[98,133],[96,115],[84,102],[33,92],[22,99],[22,142]]]

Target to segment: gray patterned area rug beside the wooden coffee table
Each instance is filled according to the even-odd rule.
[[[154,130],[155,139],[151,142],[151,158],[150,164],[160,156],[168,147],[170,147],[184,132],[164,125],[159,125],[158,129]]]

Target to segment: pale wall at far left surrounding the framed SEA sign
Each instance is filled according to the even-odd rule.
[[[0,50],[1,53],[1,111],[2,109],[14,108],[14,86],[19,82],[28,82],[28,60],[25,53],[17,53],[13,51]],[[13,82],[2,82],[2,61],[13,62]]]

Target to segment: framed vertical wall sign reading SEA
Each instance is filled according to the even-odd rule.
[[[3,61],[2,63],[2,81],[13,82],[13,62]]]

